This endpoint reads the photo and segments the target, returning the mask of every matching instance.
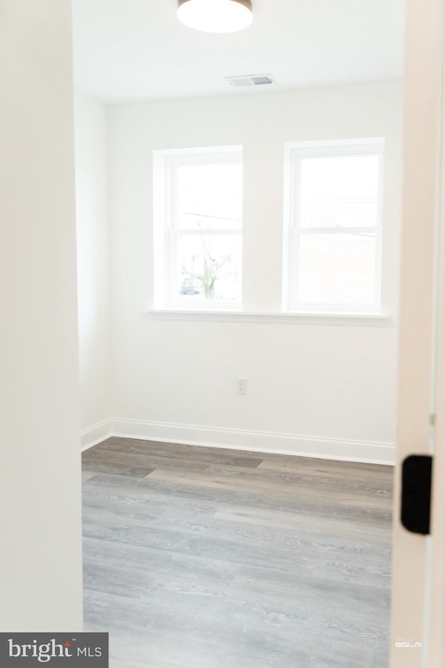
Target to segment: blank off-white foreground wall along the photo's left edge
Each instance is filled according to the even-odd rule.
[[[1,0],[0,91],[0,630],[80,631],[69,0]]]

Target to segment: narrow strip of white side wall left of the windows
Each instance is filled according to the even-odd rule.
[[[81,427],[91,441],[110,417],[108,138],[104,105],[80,91],[75,153]]]

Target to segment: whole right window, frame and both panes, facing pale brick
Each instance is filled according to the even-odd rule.
[[[284,308],[380,311],[384,141],[286,145]]]

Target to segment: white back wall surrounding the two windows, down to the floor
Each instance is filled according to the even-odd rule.
[[[257,447],[391,459],[390,449],[366,447],[395,440],[400,83],[120,105],[111,107],[109,123],[116,433],[254,447],[254,431],[264,436]],[[147,317],[153,150],[243,145],[244,306],[270,312],[281,305],[283,143],[375,136],[387,139],[389,326]],[[248,379],[245,397],[235,393],[237,376]],[[348,452],[345,441],[353,442]]]

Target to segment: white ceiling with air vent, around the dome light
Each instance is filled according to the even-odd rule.
[[[224,77],[240,74],[277,88],[401,77],[403,0],[252,1],[250,28],[209,35],[179,22],[177,0],[73,0],[76,84],[124,102],[237,95]]]

